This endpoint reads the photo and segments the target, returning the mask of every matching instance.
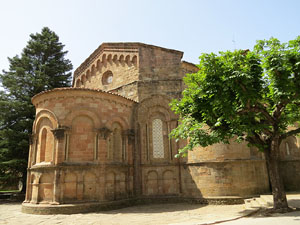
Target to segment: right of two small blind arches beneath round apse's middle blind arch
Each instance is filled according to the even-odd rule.
[[[83,178],[83,198],[87,200],[96,200],[97,177],[92,172],[87,172]]]

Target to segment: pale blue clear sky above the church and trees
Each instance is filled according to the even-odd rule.
[[[0,70],[30,33],[55,31],[77,68],[102,42],[143,42],[184,52],[252,49],[300,35],[298,0],[7,0],[0,2]]]

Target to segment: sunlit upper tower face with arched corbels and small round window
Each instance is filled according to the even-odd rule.
[[[138,79],[138,49],[104,43],[76,69],[73,87],[112,91]],[[135,93],[125,97],[136,99]]]

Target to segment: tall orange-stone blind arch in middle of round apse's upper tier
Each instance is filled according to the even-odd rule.
[[[88,162],[94,160],[95,124],[93,118],[78,115],[73,118],[70,134],[68,161]]]

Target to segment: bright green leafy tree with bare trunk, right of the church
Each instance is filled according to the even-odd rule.
[[[195,146],[247,141],[264,152],[274,209],[289,210],[279,171],[279,146],[300,132],[300,36],[288,43],[257,41],[253,51],[200,56],[199,71],[187,74],[187,88],[171,103],[181,124],[173,138]]]

